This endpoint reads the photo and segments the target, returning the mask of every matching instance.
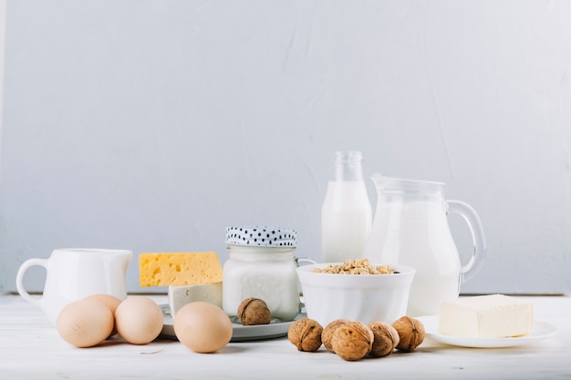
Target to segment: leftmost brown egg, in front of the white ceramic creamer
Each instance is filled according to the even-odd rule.
[[[76,347],[91,347],[103,342],[113,330],[113,313],[94,299],[68,303],[57,316],[57,333]]]

